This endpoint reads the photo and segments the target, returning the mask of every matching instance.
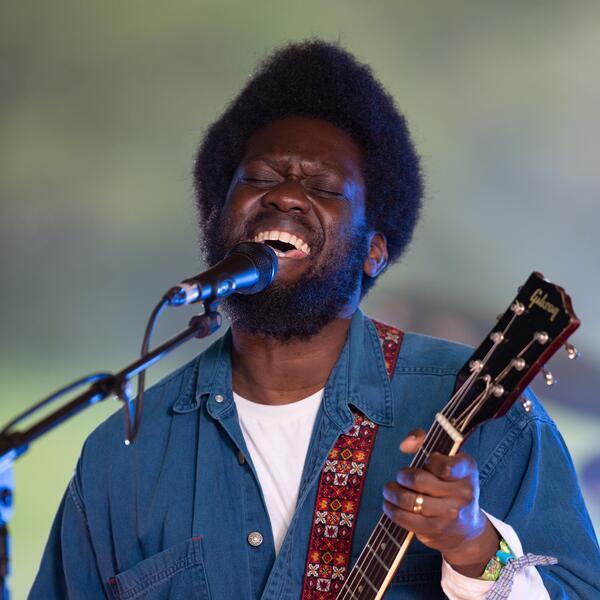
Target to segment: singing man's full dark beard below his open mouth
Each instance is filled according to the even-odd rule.
[[[333,236],[328,232],[328,237]],[[212,238],[208,253],[212,258],[224,256],[228,249],[220,237]],[[368,243],[369,230],[362,226],[340,239],[328,255],[320,257],[321,266],[309,269],[299,281],[289,284],[275,280],[252,296],[233,294],[223,301],[223,309],[235,327],[249,333],[281,342],[308,339],[338,317],[355,294]]]

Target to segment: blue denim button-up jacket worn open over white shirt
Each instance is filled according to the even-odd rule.
[[[382,511],[382,490],[410,457],[398,444],[448,401],[464,346],[406,334],[392,381],[372,322],[354,315],[325,388],[296,511],[276,556],[269,517],[231,392],[231,335],[147,393],[141,432],[123,444],[115,414],[86,441],[30,598],[288,600],[300,596],[319,476],[351,407],[379,425],[352,544],[354,561]],[[540,404],[516,403],[464,450],[480,504],[516,530],[552,598],[600,598],[600,554],[564,442]],[[251,535],[260,533],[260,536]],[[262,536],[262,538],[261,538]],[[261,541],[262,539],[262,541]],[[385,595],[443,598],[441,556],[414,541]]]

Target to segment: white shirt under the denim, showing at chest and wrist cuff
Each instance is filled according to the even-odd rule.
[[[296,509],[304,461],[323,390],[304,400],[276,406],[251,402],[235,392],[233,399],[267,504],[275,552],[279,553]],[[522,556],[523,549],[515,530],[508,523],[487,516],[514,554]],[[446,561],[442,561],[441,584],[450,600],[484,600],[493,586],[492,582],[461,575]],[[525,597],[528,600],[550,598],[535,567],[527,567],[515,575],[508,600]]]

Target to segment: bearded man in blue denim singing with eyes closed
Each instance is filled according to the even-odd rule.
[[[416,538],[385,598],[599,598],[575,472],[533,397],[407,466],[471,352],[358,308],[423,187],[368,67],[320,41],[276,52],[194,178],[207,262],[261,242],[277,277],[223,302],[231,329],[148,391],[132,446],[120,415],[88,438],[31,598],[371,599],[377,557],[344,584],[382,511]]]

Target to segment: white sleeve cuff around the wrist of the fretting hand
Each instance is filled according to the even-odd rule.
[[[485,513],[485,511],[484,511]],[[523,556],[519,536],[508,524],[485,513],[500,537],[504,538],[516,557]],[[491,556],[490,556],[491,558]],[[450,600],[484,600],[492,589],[493,581],[482,581],[466,577],[455,571],[442,560],[442,589]],[[527,598],[528,600],[550,600],[542,578],[535,567],[526,567],[515,574],[509,600]]]

